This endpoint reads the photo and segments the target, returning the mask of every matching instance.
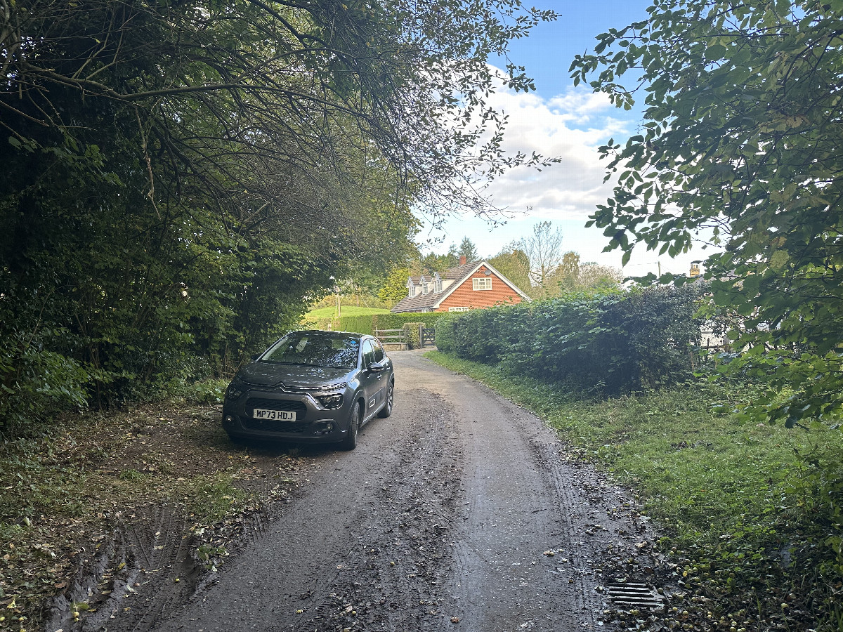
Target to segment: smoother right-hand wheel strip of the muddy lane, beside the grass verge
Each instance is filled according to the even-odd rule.
[[[414,383],[459,420],[466,505],[446,589],[460,628],[610,629],[604,562],[642,554],[624,538],[644,527],[630,499],[568,456],[534,415],[469,378],[407,359]]]

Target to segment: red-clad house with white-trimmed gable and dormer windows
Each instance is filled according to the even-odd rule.
[[[500,303],[529,300],[488,261],[466,263],[465,257],[460,257],[459,265],[447,270],[444,276],[440,277],[437,273],[407,279],[407,296],[392,311],[467,312]]]

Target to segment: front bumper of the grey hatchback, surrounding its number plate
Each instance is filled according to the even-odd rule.
[[[310,394],[246,391],[223,403],[223,429],[232,437],[335,443],[346,435],[350,398],[337,409],[325,409]],[[253,410],[288,410],[295,421],[255,419]]]

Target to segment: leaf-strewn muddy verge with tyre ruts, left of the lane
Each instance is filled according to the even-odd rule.
[[[90,629],[131,612],[127,594],[154,602],[169,582],[175,599],[210,581],[310,467],[229,442],[220,415],[144,404],[0,444],[0,630]]]

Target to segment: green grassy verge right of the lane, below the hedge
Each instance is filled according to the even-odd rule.
[[[748,384],[599,400],[438,351],[427,356],[534,410],[575,453],[637,491],[664,533],[676,581],[697,600],[673,623],[843,629],[843,559],[834,550],[843,522],[834,500],[840,430],[788,430],[717,412],[751,399]]]

